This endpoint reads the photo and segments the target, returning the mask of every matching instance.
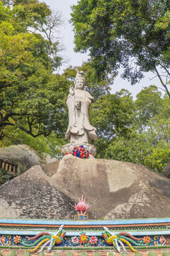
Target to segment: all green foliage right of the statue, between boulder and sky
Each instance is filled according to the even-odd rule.
[[[144,88],[135,102],[127,91],[115,95],[103,105],[100,102],[100,112],[91,113],[100,137],[95,143],[97,157],[142,164],[161,173],[170,156],[168,97],[153,85]]]

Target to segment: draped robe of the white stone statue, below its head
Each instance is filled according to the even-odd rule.
[[[94,97],[85,90],[74,90],[74,93],[69,93],[67,97],[69,126],[65,138],[70,139],[71,143],[89,143],[91,139],[98,139],[96,128],[89,122],[91,102],[94,102]]]

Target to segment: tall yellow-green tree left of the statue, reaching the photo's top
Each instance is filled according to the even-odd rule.
[[[0,139],[8,126],[32,137],[63,134],[68,82],[52,74],[61,63],[52,37],[61,17],[38,0],[0,1],[0,15]]]

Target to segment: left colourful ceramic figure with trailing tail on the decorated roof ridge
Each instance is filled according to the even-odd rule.
[[[42,247],[38,251],[38,253],[42,252],[42,250],[44,250],[45,246],[48,245],[47,252],[50,252],[50,250],[52,249],[52,247],[55,244],[60,245],[60,243],[62,243],[64,235],[65,235],[65,233],[62,232],[63,226],[64,225],[61,225],[59,230],[57,231],[57,233],[55,233],[54,235],[50,235],[50,233],[47,233],[47,232],[42,232],[42,233],[39,233],[38,235],[35,235],[35,237],[33,237],[33,238],[26,237],[29,241],[35,240],[35,242],[33,242],[31,244],[23,243],[23,245],[25,245],[27,247],[33,247],[36,245],[36,247],[33,250],[29,250],[30,252],[35,252],[36,250],[38,250],[40,245],[42,245]]]

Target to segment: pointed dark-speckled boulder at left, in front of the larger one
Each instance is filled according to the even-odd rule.
[[[72,218],[74,201],[57,191],[40,166],[0,187],[1,218]]]

